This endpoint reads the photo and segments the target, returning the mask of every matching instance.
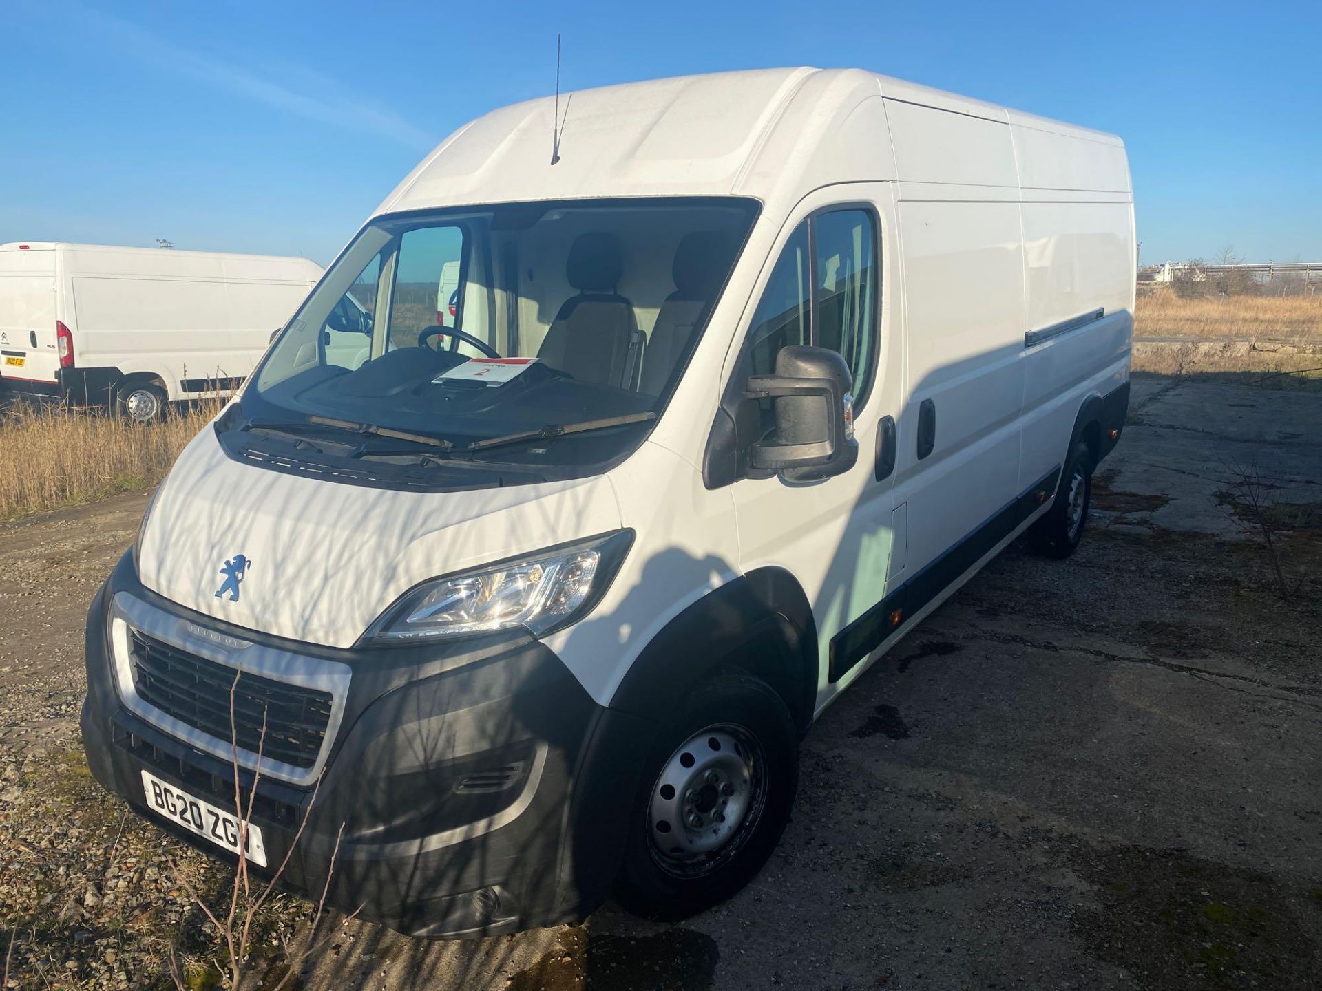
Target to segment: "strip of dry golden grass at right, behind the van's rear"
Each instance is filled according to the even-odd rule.
[[[1181,297],[1170,289],[1140,296],[1134,333],[1145,337],[1228,337],[1322,341],[1322,295]]]

